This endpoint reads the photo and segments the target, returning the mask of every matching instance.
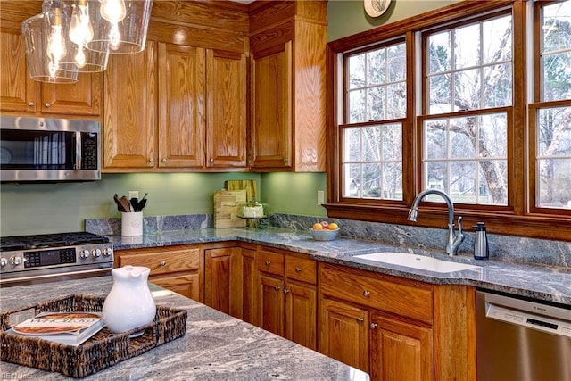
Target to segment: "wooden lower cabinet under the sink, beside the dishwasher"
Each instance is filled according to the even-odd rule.
[[[373,380],[473,380],[473,293],[319,263],[319,352]]]

